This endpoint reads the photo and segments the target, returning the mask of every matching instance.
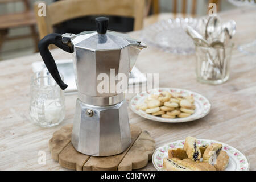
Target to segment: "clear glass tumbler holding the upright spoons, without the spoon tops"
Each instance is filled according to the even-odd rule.
[[[233,43],[229,46],[196,45],[196,76],[205,84],[222,84],[229,79]]]

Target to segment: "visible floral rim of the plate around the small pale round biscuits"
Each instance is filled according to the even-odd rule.
[[[137,109],[136,105],[141,104],[144,102],[148,96],[151,94],[159,94],[159,92],[168,91],[170,93],[172,92],[178,92],[183,94],[184,96],[191,95],[195,99],[195,106],[196,110],[195,113],[193,113],[191,116],[187,118],[175,118],[175,119],[168,119],[168,118],[162,118],[159,116],[154,116],[151,114],[147,114],[145,111]],[[210,112],[210,102],[205,98],[204,96],[200,95],[199,93],[195,93],[189,90],[184,89],[176,89],[176,88],[159,88],[159,89],[152,89],[148,92],[142,92],[138,93],[130,100],[130,108],[134,111],[134,113],[140,115],[143,118],[147,118],[153,121],[159,121],[159,122],[167,122],[167,123],[181,123],[181,122],[188,122],[188,121],[194,121],[199,118],[203,118],[205,115],[207,115]]]

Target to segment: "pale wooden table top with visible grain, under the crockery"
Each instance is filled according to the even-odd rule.
[[[152,19],[162,19],[162,15]],[[163,15],[168,18],[168,15]],[[150,132],[156,147],[184,139],[188,135],[224,142],[242,151],[256,170],[256,63],[255,56],[244,55],[237,46],[249,43],[256,35],[256,9],[236,9],[221,15],[223,20],[237,22],[237,34],[229,80],[222,85],[205,85],[196,81],[195,55],[166,53],[148,45],[135,64],[143,73],[159,73],[159,86],[183,88],[198,92],[212,103],[210,113],[188,123],[149,121],[129,109],[130,123]],[[149,21],[150,22],[150,21]],[[152,23],[153,21],[151,21]],[[138,36],[140,32],[132,32]],[[55,59],[71,58],[56,49]],[[30,122],[31,63],[42,60],[38,53],[0,62],[0,170],[63,170],[51,159],[48,140],[52,133],[72,123],[77,96],[66,96],[66,116],[56,127],[43,129]],[[39,151],[46,152],[46,164],[38,164]],[[154,170],[152,163],[143,170]]]

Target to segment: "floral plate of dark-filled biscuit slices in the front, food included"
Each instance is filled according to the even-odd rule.
[[[152,163],[159,171],[247,171],[250,168],[249,160],[236,148],[194,137],[157,148]]]

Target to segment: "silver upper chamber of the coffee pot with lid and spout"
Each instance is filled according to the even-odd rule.
[[[129,38],[126,34],[112,31],[106,34],[98,34],[96,31],[83,32],[79,35],[63,34],[63,42],[67,43],[68,39],[74,46],[73,63],[80,100],[97,106],[121,102],[121,100],[115,100],[116,102],[110,100],[106,103],[105,98],[120,94],[115,92],[115,85],[119,82],[115,80],[117,75],[125,75],[128,86],[129,72],[139,52],[146,45]],[[106,77],[100,77],[102,74]],[[108,78],[108,91],[100,93],[98,86],[106,78]],[[94,101],[92,97],[97,98]],[[91,102],[88,103],[88,100]]]

